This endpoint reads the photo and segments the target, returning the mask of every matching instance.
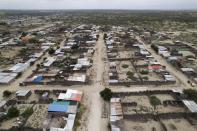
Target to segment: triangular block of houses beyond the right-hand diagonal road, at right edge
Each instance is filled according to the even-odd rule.
[[[152,48],[167,62],[182,71],[194,83],[197,83],[197,50],[195,48],[180,41],[175,41],[174,44],[152,45]]]

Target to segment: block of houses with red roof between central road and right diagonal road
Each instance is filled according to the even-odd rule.
[[[125,63],[129,63],[125,68],[128,68],[128,72],[133,73],[133,80],[136,82],[159,81],[164,84],[176,82],[174,76],[165,69],[165,66],[158,62],[144,44],[137,39],[134,31],[111,31],[106,34],[105,40],[110,84],[129,81],[127,78],[121,78],[121,74],[127,72],[121,72],[121,67],[118,66],[118,64],[124,66]],[[154,76],[156,77],[154,78]]]

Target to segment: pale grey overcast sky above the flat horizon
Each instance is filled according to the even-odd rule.
[[[0,9],[197,9],[197,0],[0,0]]]

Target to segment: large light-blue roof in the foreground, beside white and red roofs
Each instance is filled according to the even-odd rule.
[[[50,104],[48,107],[48,112],[67,112],[68,105],[61,105],[61,104]]]

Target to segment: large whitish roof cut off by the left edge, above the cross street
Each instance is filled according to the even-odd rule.
[[[12,80],[14,80],[17,76],[17,73],[4,73],[0,72],[0,83],[1,84],[8,84]]]

